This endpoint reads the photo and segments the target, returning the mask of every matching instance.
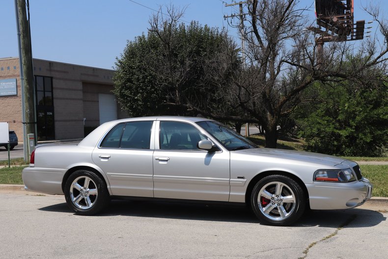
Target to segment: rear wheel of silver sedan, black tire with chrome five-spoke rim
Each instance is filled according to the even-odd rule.
[[[107,185],[96,173],[78,170],[66,180],[65,199],[70,209],[79,215],[101,212],[110,201]]]

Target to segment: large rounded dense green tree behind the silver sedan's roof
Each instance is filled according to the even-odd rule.
[[[229,106],[219,92],[241,66],[236,45],[216,28],[197,22],[185,26],[179,24],[182,13],[167,13],[167,18],[153,16],[147,35],[128,41],[117,58],[118,102],[131,116],[226,114]],[[226,51],[231,53],[228,62],[218,62]]]

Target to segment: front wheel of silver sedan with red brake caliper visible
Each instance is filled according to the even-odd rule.
[[[304,213],[305,192],[290,177],[269,175],[254,186],[250,203],[256,217],[264,224],[288,226]]]

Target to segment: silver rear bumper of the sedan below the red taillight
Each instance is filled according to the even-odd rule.
[[[63,194],[62,179],[65,169],[27,167],[22,172],[25,189],[47,194]]]

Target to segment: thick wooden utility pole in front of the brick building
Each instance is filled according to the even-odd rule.
[[[20,79],[22,86],[24,160],[28,161],[28,134],[35,135],[35,107],[33,100],[34,76],[32,69],[32,50],[26,13],[26,0],[15,0],[15,12],[18,29]]]

